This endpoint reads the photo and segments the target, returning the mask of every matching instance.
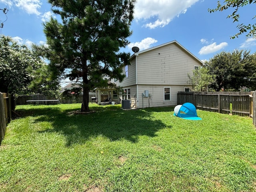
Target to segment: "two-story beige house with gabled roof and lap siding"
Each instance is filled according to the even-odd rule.
[[[190,90],[188,73],[192,75],[194,69],[203,65],[176,40],[136,52],[130,62],[131,65],[123,66],[125,79],[112,80],[122,87],[122,94],[108,90],[112,101],[129,100],[129,108],[177,105],[178,91]],[[96,96],[100,91],[96,89]]]

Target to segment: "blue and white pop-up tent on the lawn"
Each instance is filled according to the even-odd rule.
[[[188,120],[202,120],[197,116],[196,107],[192,103],[184,103],[174,108],[174,116]]]

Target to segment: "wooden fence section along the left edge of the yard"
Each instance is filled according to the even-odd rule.
[[[0,144],[6,132],[6,125],[12,118],[11,97],[0,92]]]

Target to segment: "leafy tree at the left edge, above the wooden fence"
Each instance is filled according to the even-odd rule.
[[[33,72],[44,65],[26,45],[20,45],[12,38],[0,38],[0,92],[26,94],[34,79]]]

